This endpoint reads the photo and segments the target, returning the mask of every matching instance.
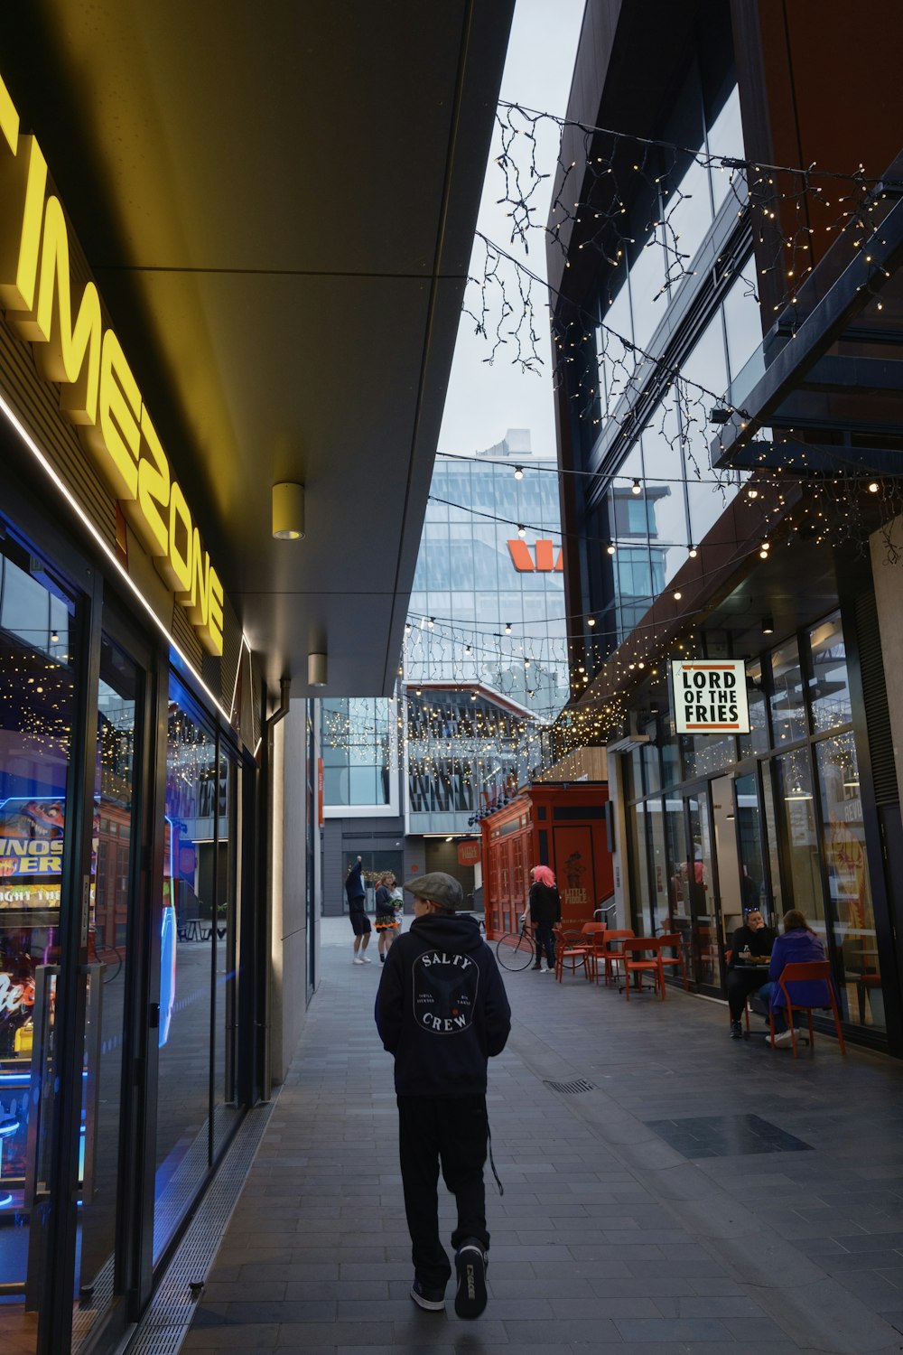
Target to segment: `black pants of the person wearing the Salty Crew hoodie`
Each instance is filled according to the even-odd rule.
[[[468,1237],[489,1248],[486,1232],[486,1098],[399,1096],[398,1146],[405,1187],[405,1214],[414,1275],[425,1289],[444,1289],[451,1276],[448,1255],[439,1238],[439,1164],[458,1202],[455,1249]]]

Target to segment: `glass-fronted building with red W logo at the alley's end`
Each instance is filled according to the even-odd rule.
[[[322,702],[326,836],[344,821],[351,844],[336,873],[368,850],[368,816],[393,836],[383,856],[403,839],[413,859],[424,835],[474,833],[537,766],[569,695],[558,485],[524,430],[437,459],[397,698]]]

